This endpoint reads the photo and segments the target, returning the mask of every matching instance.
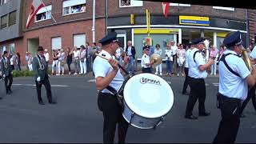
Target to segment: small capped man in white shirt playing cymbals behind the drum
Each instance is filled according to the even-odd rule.
[[[152,74],[151,65],[154,62],[150,62],[150,56],[149,56],[150,46],[144,46],[143,47],[143,55],[142,55],[142,73],[150,73]]]

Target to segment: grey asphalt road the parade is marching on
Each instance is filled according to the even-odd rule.
[[[218,130],[220,111],[215,94],[218,77],[206,78],[206,110],[209,117],[184,118],[188,96],[182,95],[183,77],[166,78],[174,91],[174,106],[156,130],[130,126],[126,142],[212,142]],[[102,142],[102,113],[97,106],[97,90],[92,74],[50,78],[56,105],[38,105],[34,78],[14,78],[14,94],[6,95],[0,82],[0,142]],[[198,115],[198,103],[194,106]],[[255,143],[256,115],[251,102],[241,119],[236,142]]]

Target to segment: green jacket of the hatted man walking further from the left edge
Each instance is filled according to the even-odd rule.
[[[40,63],[42,64],[41,69],[38,62],[38,58]],[[38,54],[33,58],[33,71],[34,71],[34,78],[37,80],[38,77],[40,77],[40,80],[44,80],[45,78],[48,78],[48,66],[46,64],[46,58],[45,56],[42,56],[43,59],[41,59]]]

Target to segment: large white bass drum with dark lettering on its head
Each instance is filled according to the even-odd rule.
[[[134,75],[126,82],[123,94],[122,116],[140,129],[158,126],[174,104],[170,85],[154,74]]]

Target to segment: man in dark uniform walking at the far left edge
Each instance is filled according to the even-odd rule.
[[[12,83],[13,83],[13,72],[12,68],[10,66],[10,58],[8,58],[8,52],[3,52],[3,58],[1,61],[1,68],[2,68],[2,77],[5,80],[5,86],[6,86],[6,94],[12,94],[12,90],[10,89]],[[9,84],[8,84],[9,81]]]

